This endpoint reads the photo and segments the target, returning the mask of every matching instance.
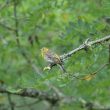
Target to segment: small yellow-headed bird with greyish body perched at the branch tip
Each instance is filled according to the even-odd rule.
[[[63,66],[63,61],[60,59],[60,56],[48,49],[47,47],[43,47],[41,49],[41,54],[42,57],[44,58],[45,61],[47,61],[49,64],[56,64],[58,65],[63,72],[66,72],[64,66]],[[51,69],[50,66],[45,67],[44,70],[46,69]]]

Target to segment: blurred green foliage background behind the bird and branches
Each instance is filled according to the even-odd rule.
[[[16,3],[16,4],[15,4]],[[15,17],[16,8],[16,17]],[[21,48],[16,42],[16,22]],[[48,47],[62,55],[77,48],[87,38],[96,40],[110,34],[110,0],[0,0],[0,81],[12,88],[35,88],[50,92],[47,83],[66,96],[110,104],[110,68],[105,67],[92,80],[60,78],[54,67],[43,71],[47,63],[40,49]],[[27,59],[22,55],[25,52]],[[71,74],[87,75],[108,62],[108,45],[93,46],[77,52],[65,61]],[[36,65],[42,77],[32,68]],[[34,99],[12,96],[15,105]],[[0,94],[0,110],[10,110],[7,96]],[[46,110],[47,103],[16,107],[15,110]],[[57,110],[85,110],[79,102],[57,106]]]

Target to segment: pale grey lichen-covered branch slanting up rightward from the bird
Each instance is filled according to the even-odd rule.
[[[77,53],[78,51],[86,49],[87,46],[89,48],[89,46],[91,47],[91,46],[93,46],[95,44],[100,44],[100,43],[103,43],[103,42],[108,41],[108,40],[110,40],[110,35],[108,35],[108,36],[106,36],[104,38],[95,40],[95,41],[87,42],[87,44],[82,44],[78,48],[73,49],[72,51],[70,51],[70,52],[68,52],[66,54],[61,55],[60,58],[61,58],[61,60],[65,60],[65,59],[71,57],[73,54]]]

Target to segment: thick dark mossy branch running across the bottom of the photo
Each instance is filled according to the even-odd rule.
[[[106,106],[102,106],[101,104],[97,104],[94,102],[87,102],[84,99],[80,98],[80,99],[74,99],[73,97],[59,97],[56,94],[53,95],[49,95],[47,92],[42,92],[36,89],[30,89],[30,88],[26,88],[26,89],[20,89],[17,92],[11,92],[9,90],[7,90],[6,88],[4,88],[4,86],[0,86],[0,93],[6,93],[6,94],[10,94],[10,95],[18,95],[18,96],[22,96],[22,97],[29,97],[29,98],[37,98],[38,100],[35,101],[34,103],[37,103],[38,101],[47,101],[49,102],[51,105],[56,105],[60,102],[64,102],[64,103],[73,103],[73,102],[78,102],[81,103],[81,106],[83,108],[86,108],[87,110],[109,110],[110,108],[106,107]],[[34,104],[31,103],[31,104]],[[30,104],[30,106],[31,106]],[[23,105],[24,106],[24,105]],[[17,106],[15,106],[17,107]],[[18,106],[20,107],[20,106]],[[21,106],[22,107],[22,106]]]

